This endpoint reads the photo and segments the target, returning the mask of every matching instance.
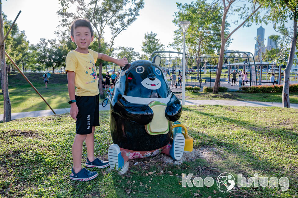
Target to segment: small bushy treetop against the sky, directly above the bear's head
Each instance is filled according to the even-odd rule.
[[[145,33],[144,39],[145,41],[142,42],[142,51],[145,52],[145,55],[148,57],[154,51],[164,51],[164,44],[159,42],[159,39],[156,38],[156,33]]]

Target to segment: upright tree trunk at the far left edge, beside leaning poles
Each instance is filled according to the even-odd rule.
[[[1,3],[1,1],[0,1]],[[1,11],[1,8],[0,8]],[[2,13],[0,12],[0,43],[3,41],[4,38],[4,31],[3,31],[3,17]],[[3,122],[9,122],[11,121],[11,103],[9,99],[9,93],[8,93],[8,75],[7,75],[7,67],[5,62],[5,44],[3,42],[3,45],[0,46],[0,64],[1,64],[1,71],[2,71],[2,93],[4,98],[3,103]],[[1,84],[2,85],[2,84]],[[5,90],[5,91],[4,91]],[[5,108],[4,108],[5,107]]]

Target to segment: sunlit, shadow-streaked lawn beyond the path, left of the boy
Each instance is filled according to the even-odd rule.
[[[48,89],[45,88],[42,73],[25,73],[25,75],[53,109],[70,108],[66,74],[52,74],[47,85]],[[11,113],[50,109],[20,73],[12,73],[8,80]],[[3,107],[2,93],[0,107]],[[0,114],[3,114],[3,108],[0,108]]]

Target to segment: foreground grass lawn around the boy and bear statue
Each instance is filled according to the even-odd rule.
[[[194,147],[205,149],[199,159],[181,165],[166,165],[162,156],[132,160],[124,176],[93,169],[99,175],[89,182],[69,178],[75,136],[69,114],[1,123],[0,197],[298,197],[297,117],[298,110],[291,108],[187,106],[180,121],[194,138]],[[112,144],[109,112],[100,112],[100,118],[95,153],[107,159]],[[85,159],[85,148],[83,155]],[[232,193],[221,193],[216,178],[223,172],[246,178],[255,173],[285,176],[289,189],[236,187]],[[210,176],[215,184],[181,187],[182,173]]]

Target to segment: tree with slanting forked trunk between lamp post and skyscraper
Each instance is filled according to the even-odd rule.
[[[221,31],[220,31],[221,46],[220,46],[220,52],[219,52],[219,63],[216,71],[216,78],[215,78],[215,83],[213,88],[214,94],[218,93],[219,80],[220,80],[221,70],[223,68],[223,62],[224,62],[224,49],[225,49],[226,42],[231,37],[231,35],[234,32],[236,32],[237,29],[239,29],[241,26],[246,25],[246,27],[249,27],[251,26],[252,22],[254,21],[258,22],[260,20],[258,10],[260,9],[261,4],[258,2],[258,0],[248,0],[250,7],[246,7],[245,4],[242,7],[236,6],[235,4],[238,2],[237,0],[230,0],[230,1],[223,0],[222,2],[224,6],[224,13],[223,13],[222,22],[221,22]],[[235,6],[236,8],[233,9],[233,6]],[[239,13],[238,15],[240,16],[240,19],[243,21],[237,26],[237,28],[231,31],[228,34],[228,36],[225,36],[224,34],[225,23],[226,23],[226,17],[229,11],[231,12],[230,14]],[[238,23],[238,21],[235,21],[235,23]]]

